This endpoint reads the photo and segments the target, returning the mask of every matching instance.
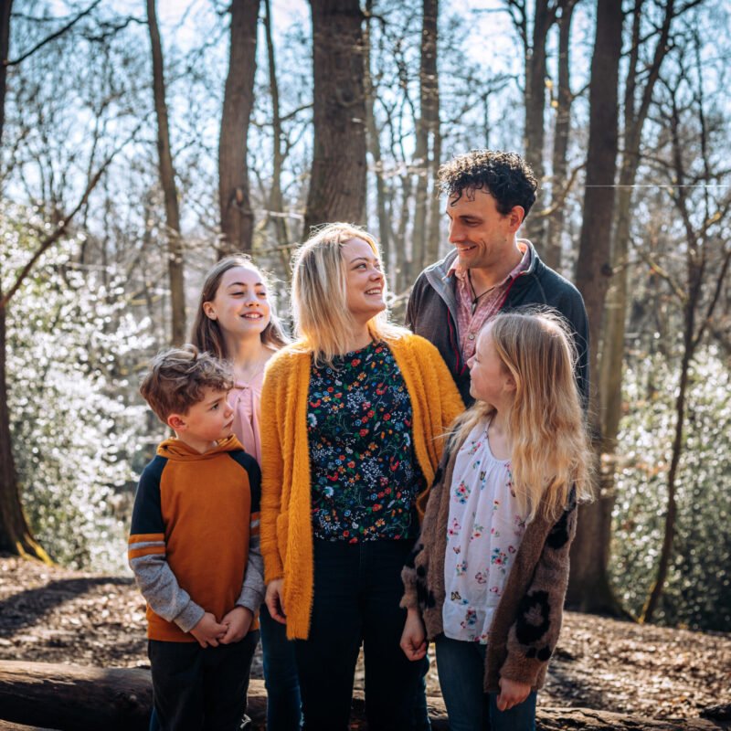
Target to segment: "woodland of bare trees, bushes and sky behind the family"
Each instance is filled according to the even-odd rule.
[[[731,630],[725,0],[0,0],[0,551],[121,572],[164,428],[137,386],[204,272],[380,239],[394,318],[475,147],[584,295],[598,500],[568,603]],[[708,29],[718,32],[709,35]]]

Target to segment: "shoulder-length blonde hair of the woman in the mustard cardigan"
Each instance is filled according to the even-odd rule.
[[[353,238],[362,238],[378,262],[381,251],[376,238],[365,229],[347,223],[331,223],[308,238],[294,254],[291,304],[295,332],[302,345],[313,351],[317,365],[332,365],[335,355],[347,352],[356,323],[347,307],[347,284],[342,249]],[[383,296],[387,296],[384,274]],[[385,310],[368,321],[374,341],[407,333],[388,322]]]

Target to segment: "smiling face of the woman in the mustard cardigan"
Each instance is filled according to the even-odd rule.
[[[386,309],[381,262],[362,238],[351,238],[340,250],[345,267],[345,303],[355,321],[365,324]]]

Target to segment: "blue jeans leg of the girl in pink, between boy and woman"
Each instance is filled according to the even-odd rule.
[[[267,686],[267,731],[299,731],[302,702],[294,642],[287,640],[286,625],[271,619],[266,604],[261,605],[259,623]]]

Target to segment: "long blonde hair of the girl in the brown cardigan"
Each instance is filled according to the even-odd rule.
[[[515,496],[529,521],[541,504],[542,514],[556,518],[570,502],[572,488],[577,500],[591,499],[592,453],[574,375],[573,339],[563,319],[547,311],[499,313],[486,327],[515,382],[507,419]],[[493,412],[476,400],[450,429],[450,444],[466,439]]]

